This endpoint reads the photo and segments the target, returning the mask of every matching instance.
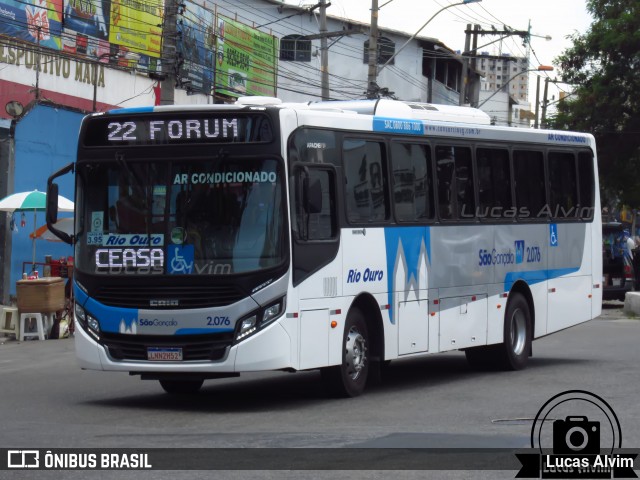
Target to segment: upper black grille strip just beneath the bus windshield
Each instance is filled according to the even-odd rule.
[[[206,308],[224,307],[246,297],[235,286],[135,286],[111,285],[96,290],[94,298],[104,305],[121,308]],[[158,300],[168,300],[170,304],[154,307]]]

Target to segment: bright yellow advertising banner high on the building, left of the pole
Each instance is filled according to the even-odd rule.
[[[109,41],[159,58],[163,12],[162,0],[111,0]]]

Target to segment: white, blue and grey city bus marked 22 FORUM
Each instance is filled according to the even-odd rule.
[[[320,369],[363,392],[387,362],[463,350],[521,369],[597,317],[592,136],[367,100],[87,116],[75,172],[75,343],[86,369],[170,393]]]

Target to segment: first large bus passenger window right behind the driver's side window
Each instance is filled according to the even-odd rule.
[[[345,140],[347,217],[354,223],[389,218],[386,167],[377,142]]]

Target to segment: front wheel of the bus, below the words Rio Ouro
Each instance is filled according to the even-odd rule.
[[[342,364],[321,370],[329,393],[338,397],[362,394],[369,375],[369,341],[364,315],[358,308],[352,308],[344,326]]]

